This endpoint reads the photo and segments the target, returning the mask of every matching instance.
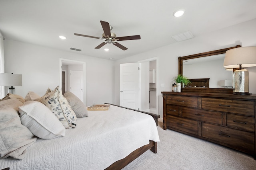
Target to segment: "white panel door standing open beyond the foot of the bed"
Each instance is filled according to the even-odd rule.
[[[120,106],[138,110],[139,63],[120,64]]]

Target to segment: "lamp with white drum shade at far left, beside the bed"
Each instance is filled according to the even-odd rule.
[[[22,86],[22,75],[0,73],[0,86],[11,86],[8,93],[15,94],[15,88],[13,86]]]

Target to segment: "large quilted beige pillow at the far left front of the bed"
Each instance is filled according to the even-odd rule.
[[[28,128],[21,124],[18,107],[22,105],[16,98],[0,102],[0,158],[22,159],[24,151],[36,141]]]

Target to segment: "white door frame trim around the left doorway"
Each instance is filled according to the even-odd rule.
[[[76,61],[70,59],[59,59],[59,87],[62,90],[62,63],[70,63],[70,64],[82,64],[83,66],[83,103],[86,106],[86,63],[83,61]]]

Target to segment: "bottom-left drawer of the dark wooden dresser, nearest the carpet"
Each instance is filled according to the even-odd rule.
[[[198,123],[194,120],[167,115],[166,126],[198,135]]]

